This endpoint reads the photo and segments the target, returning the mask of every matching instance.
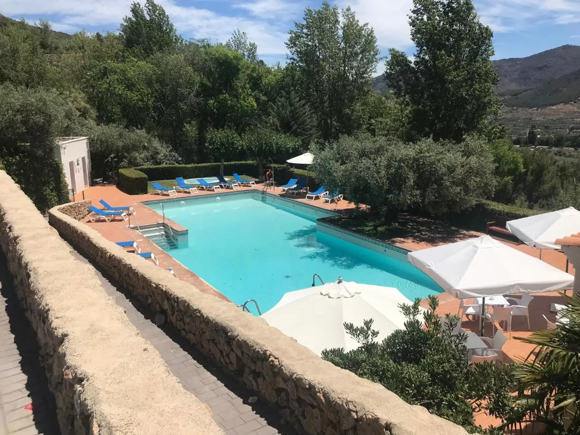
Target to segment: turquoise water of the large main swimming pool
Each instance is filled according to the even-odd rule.
[[[189,229],[189,247],[168,253],[238,305],[256,299],[264,313],[315,273],[396,287],[411,300],[442,291],[407,262],[317,231],[311,209],[227,196],[165,202],[165,215]]]

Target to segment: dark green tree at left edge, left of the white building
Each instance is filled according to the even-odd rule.
[[[68,202],[55,138],[70,135],[77,117],[55,90],[0,85],[0,160],[42,212]]]

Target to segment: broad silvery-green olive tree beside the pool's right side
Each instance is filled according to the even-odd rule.
[[[339,189],[383,219],[419,209],[436,215],[470,208],[494,190],[494,163],[485,142],[342,137],[315,151],[318,182]]]

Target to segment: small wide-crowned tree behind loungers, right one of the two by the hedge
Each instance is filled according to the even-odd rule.
[[[264,159],[284,157],[299,148],[295,137],[274,133],[263,128],[249,129],[242,136],[242,144],[248,155],[258,162],[258,175],[263,174]]]

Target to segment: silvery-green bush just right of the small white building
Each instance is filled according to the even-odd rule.
[[[119,168],[180,162],[171,146],[143,130],[107,124],[93,125],[84,134],[89,136],[93,179],[108,179]]]

